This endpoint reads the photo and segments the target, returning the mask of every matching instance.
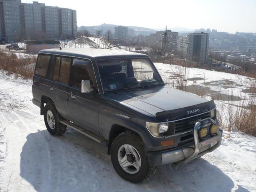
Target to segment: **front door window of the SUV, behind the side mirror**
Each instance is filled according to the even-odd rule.
[[[95,86],[94,71],[90,60],[74,59],[73,60],[73,86],[81,89],[81,82],[89,80],[91,86]]]

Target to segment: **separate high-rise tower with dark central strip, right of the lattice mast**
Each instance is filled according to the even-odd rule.
[[[208,60],[209,34],[190,33],[188,35],[188,61],[204,64]]]

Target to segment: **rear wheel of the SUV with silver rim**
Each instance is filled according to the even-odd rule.
[[[44,123],[48,132],[54,136],[62,135],[66,132],[67,126],[59,122],[58,111],[53,103],[47,103],[44,106]]]

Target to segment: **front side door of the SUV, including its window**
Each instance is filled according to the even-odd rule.
[[[82,80],[90,80],[93,92],[81,92]],[[92,62],[86,59],[74,58],[68,98],[68,116],[70,120],[82,128],[98,133],[98,99],[99,94]]]

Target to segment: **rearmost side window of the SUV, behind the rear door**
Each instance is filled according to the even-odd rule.
[[[50,63],[50,55],[38,55],[35,74],[45,77]]]

